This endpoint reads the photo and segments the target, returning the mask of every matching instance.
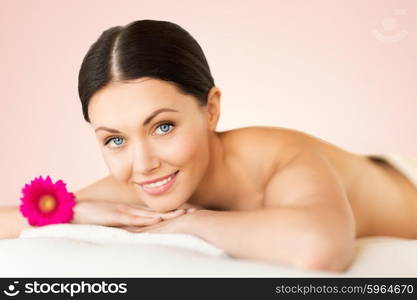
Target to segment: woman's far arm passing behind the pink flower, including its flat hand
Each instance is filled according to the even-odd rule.
[[[180,210],[168,213],[142,210],[142,203],[136,194],[111,176],[104,177],[74,194],[77,204],[71,223],[75,224],[144,226],[185,213]],[[132,207],[130,204],[136,205]],[[159,220],[156,220],[158,217]],[[19,206],[0,207],[0,239],[18,238],[24,229],[30,227],[32,226],[21,214]]]

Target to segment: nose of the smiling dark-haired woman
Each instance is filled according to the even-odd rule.
[[[149,144],[137,142],[132,153],[133,173],[149,174],[159,167],[159,159],[156,157]]]

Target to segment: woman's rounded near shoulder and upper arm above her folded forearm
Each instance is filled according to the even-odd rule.
[[[350,237],[359,231],[341,178],[329,159],[314,149],[300,152],[273,174],[262,206],[308,211],[320,226],[343,228]]]

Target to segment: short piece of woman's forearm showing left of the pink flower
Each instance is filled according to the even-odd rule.
[[[0,207],[0,239],[18,238],[20,233],[29,227],[18,206]]]

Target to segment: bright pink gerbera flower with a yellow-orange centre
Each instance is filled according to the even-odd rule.
[[[66,189],[62,180],[52,183],[48,176],[46,180],[39,176],[25,184],[20,198],[20,212],[32,226],[43,226],[56,223],[68,223],[73,218],[75,196]]]

